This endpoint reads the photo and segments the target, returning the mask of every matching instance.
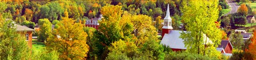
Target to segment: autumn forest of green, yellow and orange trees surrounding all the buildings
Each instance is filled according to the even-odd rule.
[[[168,4],[171,26],[182,31],[186,51],[160,44]],[[246,25],[245,16],[254,15],[247,4],[229,15],[222,10],[230,8],[225,0],[0,0],[0,6],[0,59],[256,59],[256,31],[239,45],[241,35],[228,29]],[[85,26],[100,15],[99,29]],[[39,26],[33,47],[13,22]],[[204,34],[214,44],[203,45]],[[238,42],[231,41],[233,56],[225,56],[216,48],[230,36]],[[35,49],[34,41],[43,47]]]

